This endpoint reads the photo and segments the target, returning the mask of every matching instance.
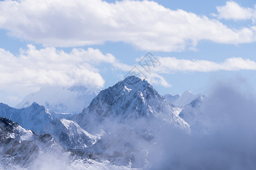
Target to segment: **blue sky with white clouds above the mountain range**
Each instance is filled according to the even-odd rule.
[[[253,1],[0,1],[0,102],[44,86],[113,86],[138,66],[160,94],[255,90]],[[160,66],[143,70],[151,52]],[[141,78],[144,75],[141,75]]]

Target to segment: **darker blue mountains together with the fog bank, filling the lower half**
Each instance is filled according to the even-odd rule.
[[[183,107],[135,76],[101,91],[80,114],[1,104],[0,116],[18,122],[0,118],[1,167],[254,169],[256,97],[229,82]]]

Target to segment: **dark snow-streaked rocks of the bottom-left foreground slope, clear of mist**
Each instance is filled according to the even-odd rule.
[[[46,152],[53,154],[64,152],[64,149],[49,134],[37,136],[7,118],[0,118],[0,164],[3,169],[28,168]]]

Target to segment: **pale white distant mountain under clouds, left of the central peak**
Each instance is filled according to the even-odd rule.
[[[88,107],[100,91],[100,87],[44,87],[24,97],[15,108],[26,108],[36,102],[55,112],[77,114]]]

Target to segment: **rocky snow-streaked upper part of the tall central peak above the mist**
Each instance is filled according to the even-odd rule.
[[[89,109],[94,110],[96,108],[96,113],[104,117],[110,116],[110,114],[113,113],[115,115],[128,113],[127,110],[129,110],[130,113],[138,112],[138,116],[139,114],[147,112],[147,109],[142,109],[142,106],[146,105],[146,100],[151,97],[158,98],[160,95],[158,95],[146,80],[132,75],[127,76],[114,86],[101,91],[100,94],[92,100]],[[122,108],[122,111],[116,111],[119,107]]]

